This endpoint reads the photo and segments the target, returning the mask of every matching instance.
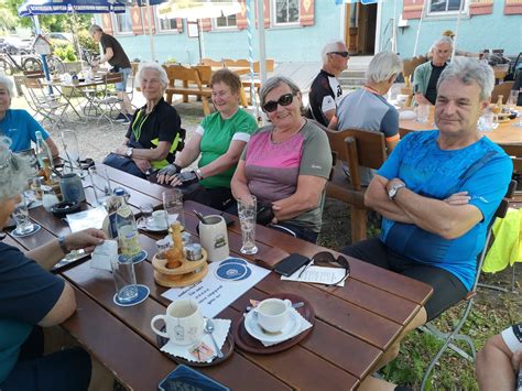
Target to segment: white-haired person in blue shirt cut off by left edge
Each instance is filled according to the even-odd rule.
[[[11,109],[14,86],[11,79],[0,75],[0,135],[11,139],[11,150],[20,152],[36,142],[36,132],[41,131],[53,158],[58,156],[58,148],[42,126],[23,109]]]

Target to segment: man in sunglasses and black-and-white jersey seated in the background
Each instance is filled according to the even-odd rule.
[[[325,127],[335,128],[336,110],[342,97],[337,76],[348,67],[350,58],[342,41],[330,42],[323,47],[323,68],[312,82],[309,89],[309,108],[312,117]]]

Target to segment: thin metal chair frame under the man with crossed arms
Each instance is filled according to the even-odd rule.
[[[429,378],[429,373],[435,368],[435,366],[438,362],[438,360],[441,359],[442,355],[448,348],[454,350],[455,352],[457,352],[461,357],[470,360],[471,362],[475,360],[476,350],[475,350],[475,345],[474,345],[472,339],[467,335],[459,334],[459,332],[460,332],[460,328],[463,327],[463,325],[466,323],[466,319],[468,318],[469,312],[471,311],[471,306],[474,304],[475,295],[477,294],[477,286],[478,286],[478,281],[479,281],[479,278],[480,278],[480,271],[482,269],[482,263],[483,263],[483,260],[486,258],[487,250],[489,248],[488,245],[490,243],[490,240],[491,240],[491,227],[492,227],[496,218],[505,217],[505,214],[508,213],[509,198],[511,198],[513,196],[514,187],[515,187],[514,181],[511,181],[511,184],[508,188],[508,192],[507,192],[504,198],[500,203],[499,207],[497,208],[497,211],[494,213],[493,218],[491,219],[491,222],[488,227],[488,233],[486,236],[485,248],[483,248],[482,252],[480,252],[479,257],[477,258],[477,276],[475,279],[474,286],[468,292],[468,294],[463,298],[463,302],[466,303],[466,306],[465,306],[464,311],[461,312],[460,317],[458,319],[456,319],[456,322],[453,323],[455,326],[452,326],[452,329],[448,333],[441,332],[435,326],[435,324],[433,322],[428,322],[428,323],[426,323],[426,325],[420,327],[423,332],[429,333],[429,334],[434,335],[435,337],[444,340],[444,345],[438,350],[438,352],[435,355],[432,362],[429,362],[429,366],[427,367],[426,371],[424,372],[421,390],[425,389],[426,382]],[[454,341],[456,341],[456,340],[465,341],[469,347],[470,355],[468,355],[466,351],[464,351],[458,346],[454,345]]]

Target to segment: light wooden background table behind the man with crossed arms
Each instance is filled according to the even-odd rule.
[[[413,110],[412,108],[404,109],[402,111]],[[522,112],[522,107],[518,107],[519,112]],[[427,122],[418,122],[415,119],[400,119],[399,120],[399,132],[401,137],[420,130],[432,130],[436,129],[434,122],[435,107],[429,108],[429,119]],[[519,118],[510,120],[509,122],[499,123],[499,127],[494,130],[483,132],[483,134],[496,142],[499,145],[512,145],[522,144],[522,127],[519,127]]]

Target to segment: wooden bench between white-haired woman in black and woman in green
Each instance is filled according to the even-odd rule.
[[[182,65],[168,65],[165,70],[168,76],[168,87],[165,90],[168,105],[172,105],[174,94],[183,95],[184,101],[188,101],[188,95],[194,95],[202,98],[203,112],[208,116],[210,113],[208,98],[211,96],[211,89],[203,86],[198,70]],[[177,85],[176,82],[182,85]]]

